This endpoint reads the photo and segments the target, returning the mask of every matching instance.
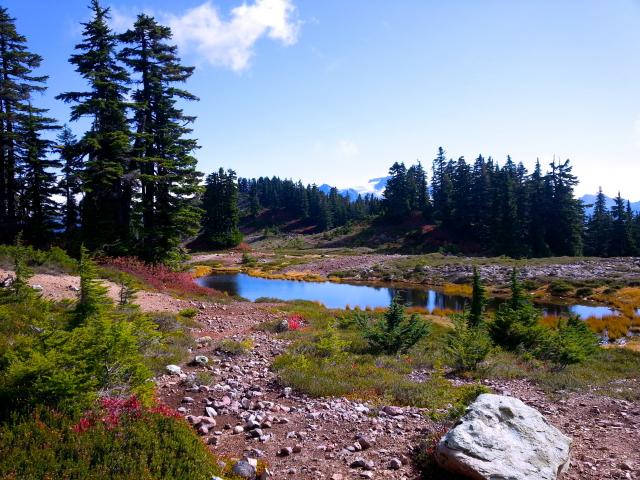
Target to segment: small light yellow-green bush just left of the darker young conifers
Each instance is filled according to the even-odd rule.
[[[470,326],[464,315],[452,320],[453,330],[447,336],[448,364],[458,372],[474,370],[491,351],[491,338],[484,325]]]

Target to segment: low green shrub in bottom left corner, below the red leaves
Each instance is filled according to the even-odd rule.
[[[183,420],[160,413],[86,431],[51,410],[0,425],[0,478],[210,480],[217,459]]]

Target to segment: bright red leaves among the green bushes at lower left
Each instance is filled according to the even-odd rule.
[[[123,419],[140,418],[144,413],[180,418],[178,412],[161,403],[151,408],[142,406],[135,395],[128,398],[105,397],[100,400],[95,411],[87,412],[72,428],[74,432],[82,433],[101,423],[110,430],[120,425]]]

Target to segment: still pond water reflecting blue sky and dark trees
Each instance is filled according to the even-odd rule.
[[[271,280],[251,277],[244,273],[210,275],[197,280],[204,287],[227,292],[254,301],[261,297],[280,300],[311,300],[324,304],[328,308],[387,307],[392,298],[398,296],[405,305],[434,309],[462,311],[469,298],[459,295],[447,295],[438,290],[353,285],[333,282],[304,282],[297,280]],[[501,300],[493,299],[490,307],[496,308]],[[617,315],[609,307],[589,305],[540,305],[545,314],[567,315],[577,314],[582,318]]]

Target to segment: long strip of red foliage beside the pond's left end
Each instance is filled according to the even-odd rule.
[[[189,272],[175,272],[162,264],[148,264],[133,257],[107,257],[100,261],[106,267],[133,275],[157,290],[171,290],[182,295],[217,295],[212,288],[195,283]]]

